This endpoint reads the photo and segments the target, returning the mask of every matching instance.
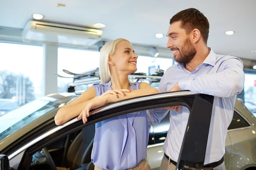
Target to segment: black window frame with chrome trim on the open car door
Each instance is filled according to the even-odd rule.
[[[55,142],[58,139],[61,139],[62,137],[70,133],[73,133],[74,131],[79,130],[87,125],[91,125],[96,122],[100,122],[102,120],[109,119],[111,117],[119,116],[126,113],[143,111],[143,110],[148,110],[153,108],[163,108],[163,107],[175,106],[175,105],[181,105],[181,106],[187,107],[190,111],[190,115],[192,115],[192,113],[198,114],[200,112],[199,109],[201,109],[202,107],[200,103],[202,101],[204,102],[203,107],[206,107],[206,108],[208,107],[207,108],[208,110],[207,109],[206,110],[209,113],[209,114],[200,113],[201,116],[205,116],[205,115],[208,116],[207,120],[204,119],[204,122],[202,123],[203,124],[202,126],[206,126],[206,128],[201,128],[203,130],[203,133],[198,133],[198,131],[197,133],[195,133],[195,131],[194,133],[192,133],[193,132],[192,129],[195,129],[198,126],[198,125],[195,126],[195,121],[198,122],[199,120],[197,120],[196,118],[193,118],[193,116],[189,116],[189,122],[187,125],[187,130],[184,135],[183,143],[181,146],[181,152],[177,162],[177,167],[179,166],[184,167],[184,166],[187,166],[188,162],[191,163],[190,160],[184,160],[184,156],[186,157],[186,154],[187,154],[186,152],[188,152],[186,148],[188,148],[188,146],[191,145],[192,143],[192,142],[189,142],[189,138],[192,138],[192,140],[200,139],[198,142],[202,143],[202,144],[198,144],[198,146],[201,147],[201,154],[198,154],[197,157],[198,157],[198,160],[201,161],[201,164],[199,161],[199,163],[197,163],[197,166],[203,167],[204,155],[206,151],[206,144],[207,144],[208,133],[209,133],[209,122],[210,122],[210,117],[212,113],[213,96],[209,96],[205,94],[193,94],[190,91],[180,91],[180,92],[171,92],[171,93],[169,92],[169,93],[163,93],[163,94],[154,94],[149,96],[137,97],[134,99],[127,99],[122,102],[116,102],[116,103],[95,109],[91,111],[91,113],[93,114],[88,117],[88,121],[86,124],[83,124],[81,120],[77,120],[76,118],[74,118],[69,122],[66,122],[64,125],[54,127],[48,132],[44,133],[43,135],[38,136],[37,139],[34,139],[33,141],[31,141],[32,143],[29,143],[26,146],[23,146],[23,148],[20,148],[20,150],[16,151],[16,153],[12,153],[11,156],[13,157],[15,156],[15,154],[18,154],[19,152],[26,150],[22,159],[22,163],[20,165],[20,168],[26,169],[28,166],[26,164],[31,162],[33,153],[35,153],[38,150],[41,150],[41,148],[46,147],[52,142]],[[197,105],[197,107],[193,107],[195,105]],[[189,126],[192,125],[192,123],[194,123],[194,126],[189,128]],[[208,131],[207,131],[207,128],[208,128]],[[204,138],[192,137],[196,135],[204,135]],[[186,157],[185,159],[189,159],[189,158]],[[195,160],[195,156],[193,157],[193,160]]]

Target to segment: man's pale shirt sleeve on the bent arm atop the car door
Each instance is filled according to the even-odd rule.
[[[193,93],[218,97],[235,96],[244,88],[243,62],[238,58],[227,59],[221,63],[219,72],[203,74],[194,79],[182,79],[178,85],[181,90]]]

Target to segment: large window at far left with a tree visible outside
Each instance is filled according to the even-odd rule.
[[[0,116],[42,96],[43,47],[0,42]]]

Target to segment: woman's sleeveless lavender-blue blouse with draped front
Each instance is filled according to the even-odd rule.
[[[130,83],[131,90],[140,82]],[[111,82],[94,85],[100,96],[111,89]],[[120,115],[98,122],[92,150],[92,162],[104,170],[126,170],[135,167],[147,155],[148,119],[146,111]]]

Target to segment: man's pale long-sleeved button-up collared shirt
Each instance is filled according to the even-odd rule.
[[[183,64],[172,65],[166,70],[158,88],[160,93],[168,92],[178,82],[182,90],[215,96],[204,164],[219,161],[224,156],[227,127],[233,118],[236,95],[244,88],[241,59],[209,50],[207,58],[193,72],[186,70]],[[150,110],[148,120],[155,125],[165,115],[166,109]],[[179,112],[170,111],[170,127],[163,149],[176,162],[188,118],[189,110],[184,106],[180,107]]]

